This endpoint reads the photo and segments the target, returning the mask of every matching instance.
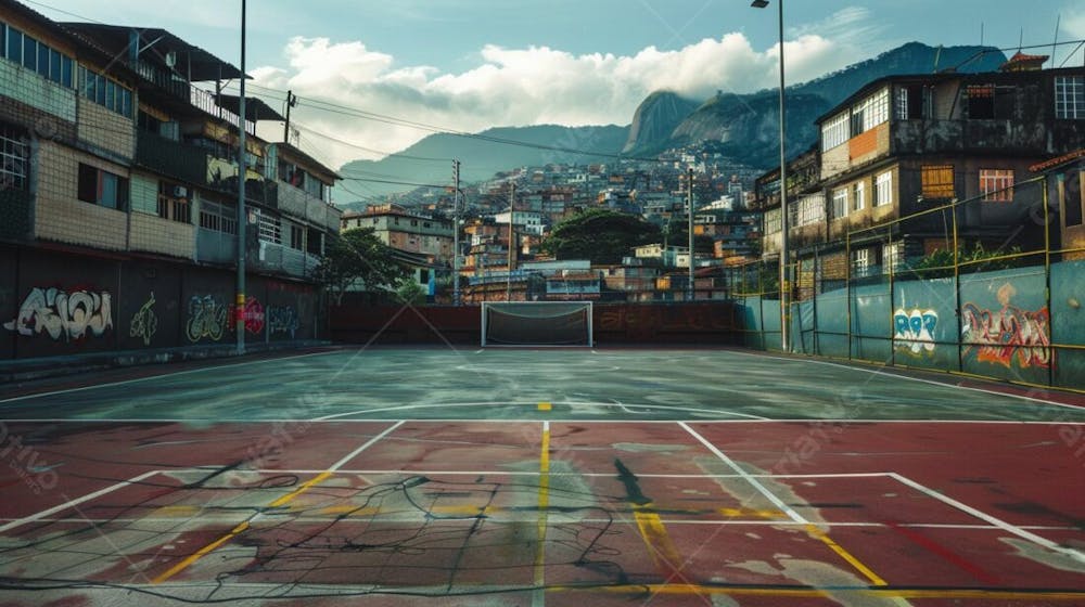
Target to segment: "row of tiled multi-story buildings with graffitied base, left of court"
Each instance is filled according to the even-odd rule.
[[[238,99],[208,89],[241,72],[163,29],[0,8],[0,359],[229,341],[242,179],[247,339],[314,336],[336,176],[255,137],[280,119],[255,99],[240,175]]]

